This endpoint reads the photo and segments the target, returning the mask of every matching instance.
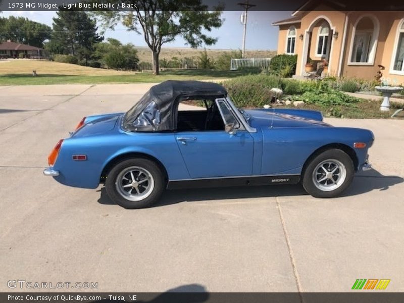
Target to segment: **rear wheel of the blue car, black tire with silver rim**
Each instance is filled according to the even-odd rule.
[[[126,171],[128,172],[125,173]],[[144,178],[140,180],[140,183],[142,181],[143,183],[136,183],[135,187],[131,186],[130,184],[133,184],[133,182],[130,182],[132,180],[130,171],[132,171],[136,179],[135,182],[137,182],[138,178],[140,180],[144,175]],[[136,171],[140,172],[137,176],[135,176]],[[128,181],[126,181],[126,179]],[[147,180],[144,181],[144,179]],[[125,188],[123,188],[124,182],[128,182],[125,184]],[[151,184],[153,184],[153,186]],[[109,197],[116,204],[126,209],[140,209],[150,207],[157,203],[164,192],[166,181],[164,173],[155,162],[145,158],[132,158],[119,162],[111,169],[107,176],[105,187]],[[126,192],[127,190],[129,190],[130,193]],[[135,190],[135,192],[133,192],[133,190]],[[142,190],[144,191],[141,192]],[[123,191],[125,191],[126,194]],[[141,197],[141,195],[144,195],[144,197]],[[139,200],[133,200],[137,198]]]

